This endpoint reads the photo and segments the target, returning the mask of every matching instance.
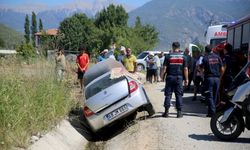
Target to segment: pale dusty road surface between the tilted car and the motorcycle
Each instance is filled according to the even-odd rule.
[[[135,122],[111,139],[102,142],[90,142],[84,149],[103,150],[249,150],[250,131],[231,142],[218,140],[210,130],[210,118],[206,117],[207,107],[200,101],[192,101],[192,93],[185,93],[184,117],[176,118],[174,107],[170,117],[162,118],[164,95],[161,89],[164,83],[146,84],[145,88],[156,110],[154,117],[139,113]],[[174,106],[174,95],[172,103]],[[112,130],[112,129],[111,129]]]

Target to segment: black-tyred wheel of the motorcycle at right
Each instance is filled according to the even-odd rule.
[[[244,121],[240,116],[233,116],[225,123],[220,123],[224,112],[216,113],[210,120],[210,128],[214,135],[224,141],[234,140],[244,130]]]

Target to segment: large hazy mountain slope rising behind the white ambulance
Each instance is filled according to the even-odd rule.
[[[250,0],[152,0],[129,13],[129,24],[139,16],[160,33],[157,49],[170,48],[172,41],[204,42],[204,32],[211,20],[228,22],[250,13]]]

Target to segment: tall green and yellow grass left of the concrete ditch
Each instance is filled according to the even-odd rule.
[[[54,67],[0,66],[0,149],[26,148],[31,135],[49,130],[75,105],[71,90],[56,82]]]

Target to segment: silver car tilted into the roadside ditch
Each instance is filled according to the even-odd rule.
[[[138,80],[119,62],[108,59],[91,67],[84,75],[83,117],[94,133],[137,111],[155,111]]]

